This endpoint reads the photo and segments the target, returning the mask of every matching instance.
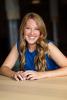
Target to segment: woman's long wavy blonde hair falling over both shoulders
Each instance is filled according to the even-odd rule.
[[[24,39],[24,27],[28,21],[28,19],[33,19],[37,23],[41,37],[37,41],[37,55],[35,57],[34,63],[35,63],[35,68],[37,71],[44,71],[46,68],[46,59],[45,59],[45,54],[48,51],[48,46],[47,46],[47,31],[46,31],[46,26],[42,18],[36,14],[36,13],[28,13],[25,15],[21,22],[20,26],[20,51],[21,51],[21,65],[23,66],[25,64],[25,51],[27,48],[27,43]]]

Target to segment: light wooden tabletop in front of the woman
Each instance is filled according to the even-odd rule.
[[[17,82],[0,75],[0,100],[67,100],[67,77]]]

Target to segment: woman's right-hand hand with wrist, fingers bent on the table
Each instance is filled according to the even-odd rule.
[[[23,73],[26,80],[37,80],[40,78],[44,78],[44,72],[36,72],[36,71],[25,71]]]

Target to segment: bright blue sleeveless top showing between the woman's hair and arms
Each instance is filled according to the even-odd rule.
[[[24,65],[25,70],[35,70],[34,58],[36,54],[37,54],[36,51],[30,52],[28,49],[26,50],[25,53],[26,64]],[[47,63],[47,70],[54,70],[58,68],[56,63],[51,58],[49,58],[47,54],[46,54],[46,63]]]

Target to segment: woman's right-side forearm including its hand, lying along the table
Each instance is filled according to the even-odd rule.
[[[67,67],[59,68],[52,71],[36,72],[27,70],[23,73],[25,79],[27,80],[36,80],[41,78],[52,78],[52,77],[62,77],[67,76]]]

